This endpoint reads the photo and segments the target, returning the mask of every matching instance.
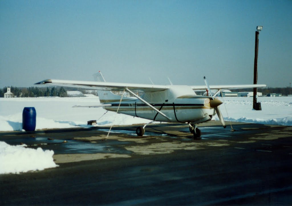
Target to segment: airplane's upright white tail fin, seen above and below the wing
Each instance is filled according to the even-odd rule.
[[[102,76],[101,72],[93,74],[94,80],[96,82],[105,82],[105,78]],[[100,103],[111,103],[120,101],[121,96],[112,93],[112,91],[97,90],[97,94],[100,100]],[[123,97],[123,100],[129,100],[131,98]]]

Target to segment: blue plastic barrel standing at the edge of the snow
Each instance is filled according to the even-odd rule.
[[[34,107],[23,108],[22,129],[25,131],[34,131],[36,129],[36,110]]]

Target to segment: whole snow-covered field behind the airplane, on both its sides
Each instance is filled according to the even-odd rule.
[[[221,101],[222,98],[221,98]],[[259,124],[292,125],[292,97],[259,97],[262,110],[252,110],[252,97],[225,97],[220,110],[225,120]],[[102,108],[72,108],[74,105],[99,104],[98,97],[70,98],[0,98],[0,131],[21,131],[24,107],[36,109],[36,129],[86,127],[88,120],[98,120]],[[227,112],[229,118],[227,116]],[[214,117],[218,120],[217,115]],[[149,120],[107,112],[98,125],[147,123]]]

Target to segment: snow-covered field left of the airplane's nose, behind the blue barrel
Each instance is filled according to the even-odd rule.
[[[22,110],[24,107],[36,109],[36,129],[86,127],[87,121],[98,120],[106,110],[102,108],[72,108],[74,105],[100,104],[99,98],[0,98],[0,131],[22,130]],[[149,120],[133,118],[128,115],[107,112],[99,125],[137,124]]]

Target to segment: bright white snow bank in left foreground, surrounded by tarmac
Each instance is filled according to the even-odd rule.
[[[53,161],[53,150],[25,148],[26,145],[11,146],[0,141],[0,174],[20,173],[57,167]]]

